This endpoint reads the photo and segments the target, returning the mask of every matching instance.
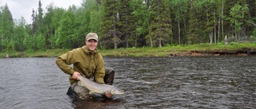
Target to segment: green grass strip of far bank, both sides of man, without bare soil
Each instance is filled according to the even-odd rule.
[[[230,43],[224,45],[218,44],[198,44],[198,45],[173,45],[161,48],[127,48],[127,49],[99,49],[102,56],[169,56],[173,53],[184,53],[190,51],[214,51],[214,50],[236,50],[236,49],[256,49],[256,43]],[[56,57],[62,53],[66,53],[70,49],[50,49],[38,52],[23,52],[23,53],[0,53],[0,57],[5,57],[9,54],[10,57]]]

